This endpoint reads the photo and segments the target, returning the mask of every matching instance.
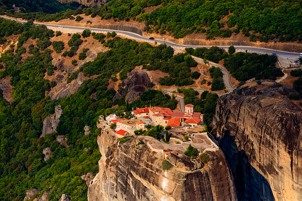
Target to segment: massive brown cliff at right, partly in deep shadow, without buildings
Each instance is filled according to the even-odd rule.
[[[221,96],[214,135],[235,174],[242,200],[301,200],[302,110],[287,99],[297,93],[271,80],[248,83],[244,95]]]

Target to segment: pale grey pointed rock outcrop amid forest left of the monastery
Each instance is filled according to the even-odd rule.
[[[44,137],[47,133],[56,132],[56,127],[59,125],[60,117],[63,113],[61,105],[57,105],[55,108],[55,113],[53,115],[47,116],[43,121],[43,131],[40,137]]]

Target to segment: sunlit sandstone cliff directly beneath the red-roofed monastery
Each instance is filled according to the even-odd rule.
[[[207,151],[213,161],[204,168],[202,162],[183,154],[182,144],[166,144],[148,136],[131,137],[120,144],[111,129],[100,122],[98,145],[102,157],[99,173],[88,187],[88,201],[237,200],[221,150]],[[173,129],[169,131],[173,133]],[[140,140],[145,144],[138,145]],[[172,150],[178,154],[164,154]],[[165,159],[173,165],[168,171],[162,168]]]

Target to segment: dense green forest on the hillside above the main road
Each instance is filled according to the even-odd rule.
[[[144,8],[158,6],[150,13]],[[74,5],[76,6],[76,5]],[[101,19],[144,22],[144,31],[169,33],[175,38],[182,38],[191,33],[206,33],[207,39],[227,38],[240,31],[250,37],[250,41],[268,42],[268,40],[302,41],[302,5],[292,0],[111,0],[99,8],[78,8],[56,14],[51,12],[25,11],[14,13],[5,9],[11,17],[36,19],[39,21],[58,21],[73,19],[73,16],[85,13]],[[73,16],[72,16],[73,15]],[[223,20],[226,17],[226,20]],[[255,35],[260,33],[261,36]]]

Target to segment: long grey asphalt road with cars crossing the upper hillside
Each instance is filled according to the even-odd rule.
[[[2,17],[0,16],[1,18],[5,18],[7,20],[12,20],[10,18],[7,18],[7,17]],[[17,21],[19,23],[25,23],[25,21]],[[34,23],[34,24],[44,24],[44,23]],[[59,27],[60,25],[53,25],[53,24],[44,24],[46,25],[47,27]],[[64,28],[67,28],[67,29],[78,29],[78,30],[85,30],[87,29],[87,27],[70,27],[70,26],[64,26]],[[64,29],[63,28],[63,29]],[[143,36],[140,36],[136,33],[132,33],[132,32],[127,32],[127,31],[119,31],[119,30],[108,30],[108,29],[96,29],[96,28],[89,28],[91,31],[106,31],[106,32],[112,32],[112,31],[115,31],[116,33],[123,33],[125,35],[128,35],[128,36],[131,36],[131,37],[134,37],[134,38],[137,38],[137,39],[143,39],[143,40],[149,40],[149,38],[145,38]],[[154,39],[153,41],[156,41],[156,42],[159,42],[159,43],[164,43],[163,40],[159,40],[159,39]],[[175,43],[172,43],[172,42],[169,42],[169,41],[165,41],[166,45],[168,46],[171,46],[171,47],[191,47],[191,48],[200,48],[200,47],[206,47],[206,48],[210,48],[212,46],[186,46],[186,45],[179,45],[179,44],[175,44]],[[223,49],[228,49],[229,46],[218,46],[220,48],[223,48]],[[295,52],[284,52],[284,51],[276,51],[274,49],[266,49],[266,48],[258,48],[258,47],[251,47],[251,46],[234,46],[235,49],[240,49],[240,50],[250,50],[250,51],[255,51],[255,52],[264,52],[264,53],[267,53],[267,54],[273,54],[273,53],[277,53],[278,55],[280,56],[283,56],[283,57],[296,57],[296,58],[299,58],[299,55],[300,53],[295,53]]]

